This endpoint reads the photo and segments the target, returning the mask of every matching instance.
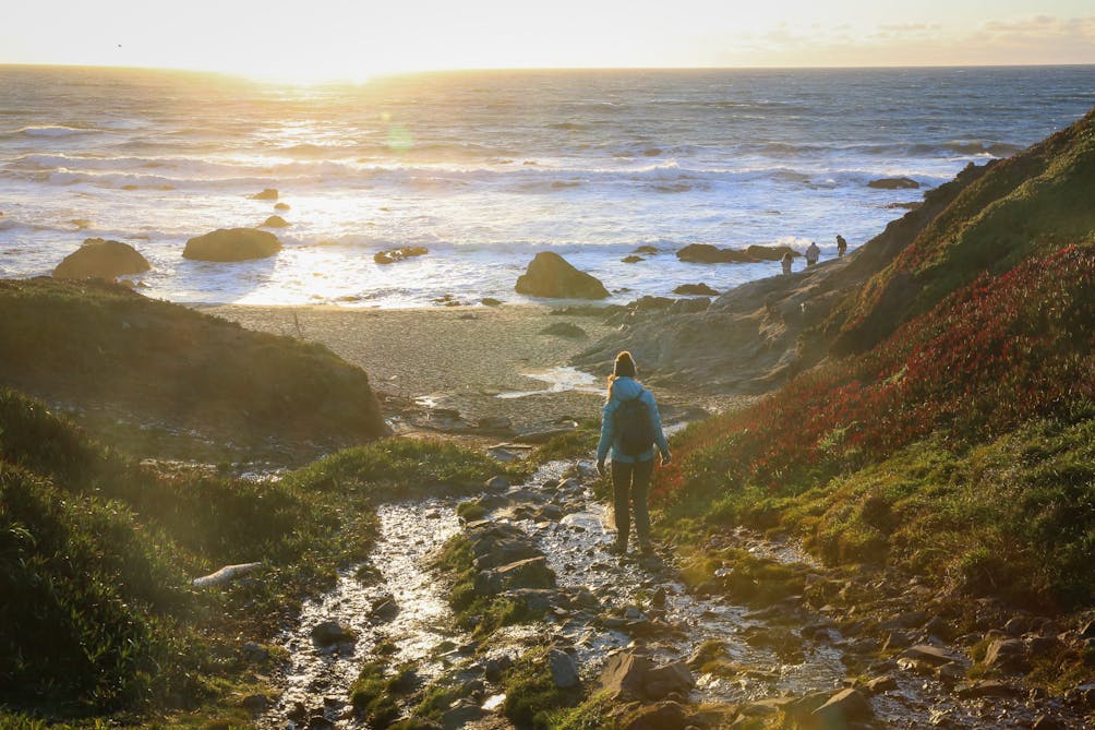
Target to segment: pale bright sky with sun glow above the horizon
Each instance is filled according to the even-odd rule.
[[[361,80],[468,68],[1095,64],[1093,0],[53,0],[0,64]]]

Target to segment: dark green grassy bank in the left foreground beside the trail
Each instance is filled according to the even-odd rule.
[[[246,719],[232,695],[262,691],[267,672],[242,643],[269,640],[338,564],[365,559],[377,501],[506,471],[450,444],[385,440],[276,480],[163,475],[0,390],[0,726],[5,710]],[[257,580],[192,588],[251,561]]]

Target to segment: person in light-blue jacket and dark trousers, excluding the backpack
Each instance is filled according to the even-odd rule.
[[[624,402],[638,398],[646,406],[654,443],[645,453],[627,455],[620,444],[615,423],[615,412]],[[654,474],[655,448],[661,453],[661,464],[669,464],[669,443],[661,431],[661,417],[654,393],[635,379],[635,361],[630,352],[616,355],[612,375],[609,377],[608,400],[601,409],[601,441],[597,445],[597,471],[604,474],[604,459],[612,453],[612,511],[615,516],[616,539],[612,551],[623,555],[627,550],[627,535],[631,531],[629,502],[635,510],[635,537],[643,554],[650,547],[650,513],[646,505],[646,493]]]

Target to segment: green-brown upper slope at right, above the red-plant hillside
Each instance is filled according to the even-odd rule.
[[[826,324],[835,350],[863,352],[982,273],[1093,242],[1095,110],[966,185]]]

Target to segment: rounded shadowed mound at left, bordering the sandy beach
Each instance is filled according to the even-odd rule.
[[[97,281],[0,281],[0,385],[140,426],[141,456],[148,433],[315,453],[384,432],[368,376],[321,345]]]

